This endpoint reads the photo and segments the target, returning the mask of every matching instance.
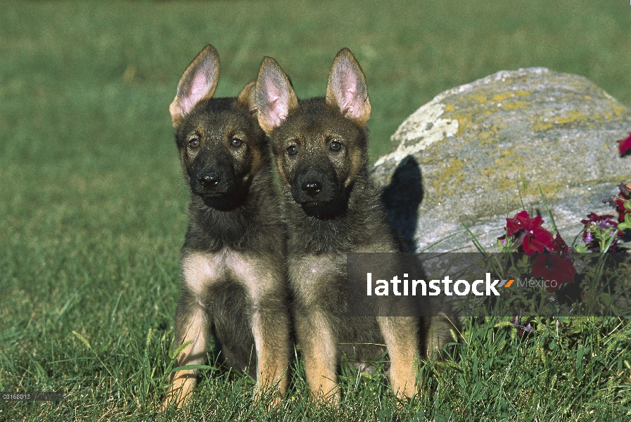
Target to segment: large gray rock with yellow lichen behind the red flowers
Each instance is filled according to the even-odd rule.
[[[631,158],[620,158],[616,143],[628,132],[630,108],[585,77],[502,71],[419,108],[373,175],[415,250],[476,250],[463,224],[495,250],[522,200],[552,231],[539,188],[571,243],[589,212],[613,214],[602,199],[631,179]]]

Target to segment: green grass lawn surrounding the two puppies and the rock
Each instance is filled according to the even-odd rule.
[[[0,11],[0,390],[66,397],[0,402],[0,420],[162,418],[153,411],[170,364],[188,200],[167,108],[205,44],[222,59],[218,96],[236,95],[264,55],[298,96],[324,95],[333,57],[348,46],[367,75],[373,160],[416,108],[498,70],[578,73],[631,103],[625,1],[1,1]],[[409,404],[397,406],[383,377],[346,371],[343,406],[317,409],[297,364],[270,415],[253,406],[247,378],[215,370],[203,373],[191,412],[631,417],[628,321],[571,321],[559,333],[541,321],[527,339],[498,322],[467,326],[467,343],[424,364],[426,393]]]

